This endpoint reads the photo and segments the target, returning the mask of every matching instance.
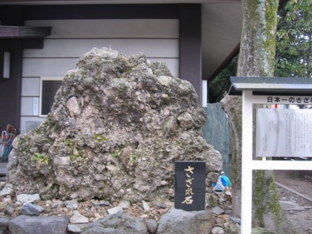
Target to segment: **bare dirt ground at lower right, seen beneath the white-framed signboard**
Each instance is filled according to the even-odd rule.
[[[275,171],[274,176],[277,183],[293,189],[312,200],[312,171]],[[289,210],[285,210],[287,217],[303,233],[312,233],[312,202],[294,194],[289,189],[276,185],[280,201],[294,202],[299,207],[311,208],[298,210],[290,206]]]

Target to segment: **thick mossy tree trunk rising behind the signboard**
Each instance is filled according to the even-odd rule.
[[[271,77],[274,75],[276,50],[277,0],[243,0],[243,31],[237,76]],[[241,216],[241,98],[221,100],[233,129],[233,215]],[[253,173],[253,226],[276,233],[300,233],[282,212],[271,171]]]

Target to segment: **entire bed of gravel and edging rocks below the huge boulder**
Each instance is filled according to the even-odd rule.
[[[0,191],[7,188],[5,183],[0,183]],[[97,199],[83,202],[41,200],[40,196],[33,199],[34,196],[38,195],[8,194],[0,197],[0,234],[240,233],[241,220],[231,216],[231,204],[223,198],[222,193],[206,198],[211,209],[205,211],[174,209],[173,202],[165,199],[151,202],[120,200],[111,203]]]

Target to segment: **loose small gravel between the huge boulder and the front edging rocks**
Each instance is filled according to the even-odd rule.
[[[0,190],[5,187],[5,182],[0,182]],[[230,194],[230,189],[227,192]],[[212,195],[212,209],[219,207],[223,209],[223,213],[214,214],[215,224],[214,227],[217,229],[222,228],[225,233],[238,234],[240,232],[240,225],[233,221],[231,218],[232,206],[231,197],[224,193]],[[103,219],[109,215],[109,209],[113,207],[121,207],[125,213],[129,213],[133,217],[153,219],[157,223],[171,207],[174,206],[173,202],[168,200],[164,204],[153,204],[153,202],[147,202],[148,209],[144,207],[144,202],[133,202],[133,201],[119,201],[111,204],[108,201],[91,199],[83,202],[75,202],[77,207],[74,209],[67,206],[66,201],[61,200],[36,200],[32,204],[43,207],[41,216],[63,216],[67,215],[69,218],[73,217],[74,211],[78,211],[81,215],[89,219],[89,223],[96,222],[97,220]],[[23,204],[16,202],[16,196],[14,194],[6,195],[0,198],[0,218],[12,219],[20,215]],[[8,209],[8,207],[11,207]]]

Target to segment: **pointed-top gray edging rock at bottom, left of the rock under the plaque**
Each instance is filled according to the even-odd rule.
[[[120,211],[89,224],[82,234],[148,234],[148,227],[144,219]]]

